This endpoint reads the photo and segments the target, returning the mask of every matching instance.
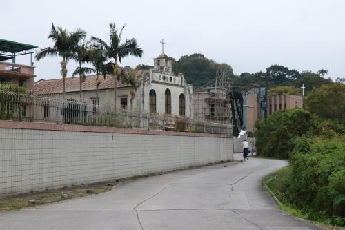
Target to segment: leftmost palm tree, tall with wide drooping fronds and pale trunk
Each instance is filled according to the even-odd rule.
[[[67,76],[67,69],[66,66],[70,57],[72,56],[72,46],[78,44],[81,39],[85,38],[86,32],[81,29],[77,29],[74,32],[68,32],[66,29],[61,27],[55,28],[54,24],[52,24],[52,30],[48,35],[48,39],[52,39],[54,45],[52,47],[41,48],[39,52],[37,52],[36,60],[39,61],[43,57],[47,56],[59,56],[62,58],[60,62],[61,65],[61,76],[62,76],[62,90],[63,90],[63,99],[66,99],[66,76]]]

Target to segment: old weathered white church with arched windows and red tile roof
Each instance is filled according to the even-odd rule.
[[[192,117],[193,86],[187,84],[184,75],[175,75],[172,60],[162,53],[154,60],[150,70],[136,70],[141,83],[135,91],[132,111]],[[99,76],[99,93],[96,97],[96,76],[88,75],[82,83],[82,102],[100,106],[116,106],[130,110],[130,87],[117,82],[111,75]],[[34,84],[34,94],[62,99],[62,79],[40,80]],[[66,99],[80,101],[79,77],[66,78]]]

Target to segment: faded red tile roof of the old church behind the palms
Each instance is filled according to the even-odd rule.
[[[136,70],[135,75],[141,77],[147,70]],[[106,88],[114,88],[115,82],[112,75],[106,75],[106,78],[103,75],[99,75],[99,90]],[[66,78],[66,93],[68,92],[78,92],[79,91],[79,77],[67,77]],[[128,85],[123,84],[120,81],[117,81],[117,88],[126,87]],[[82,83],[83,90],[96,90],[96,75],[86,76],[84,82]],[[34,94],[35,95],[44,95],[51,93],[62,93],[62,78],[59,79],[50,79],[50,80],[40,80],[34,84]]]

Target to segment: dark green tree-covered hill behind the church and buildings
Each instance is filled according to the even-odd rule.
[[[148,70],[150,68],[153,68],[153,66],[141,64],[135,69]],[[201,53],[184,55],[179,60],[172,59],[172,69],[174,73],[183,73],[187,82],[193,84],[193,88],[199,88],[200,86],[215,80],[217,68],[229,68],[231,73],[233,73],[233,68],[230,64],[219,64],[212,59],[208,59]],[[332,82],[330,78],[324,78],[326,73],[327,70],[323,70],[323,72],[319,70],[318,73],[313,73],[307,70],[299,73],[297,70],[275,64],[268,67],[266,72],[242,73],[241,75],[232,74],[232,77],[237,78],[237,80],[242,80],[242,90],[244,92],[254,87],[264,87],[267,76],[268,88],[273,88],[275,86],[292,86],[300,89],[302,84],[304,84],[304,86],[306,86],[307,93],[313,88],[319,88],[323,84]]]

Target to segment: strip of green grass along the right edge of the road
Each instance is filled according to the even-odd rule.
[[[267,175],[262,181],[262,186],[264,186],[264,188],[267,189],[270,195],[272,195],[273,200],[275,200],[279,209],[282,209],[287,213],[295,215],[304,220],[308,220],[308,215],[306,215],[306,213],[303,213],[295,205],[291,204],[286,198],[285,191],[289,183],[290,173],[290,167],[285,166],[279,171]],[[314,222],[312,220],[309,221],[327,230],[345,230],[345,227],[335,227],[321,222]]]

